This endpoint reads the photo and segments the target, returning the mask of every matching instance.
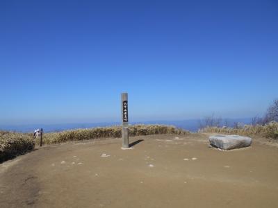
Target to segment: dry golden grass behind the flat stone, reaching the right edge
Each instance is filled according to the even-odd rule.
[[[271,122],[266,125],[244,125],[242,128],[206,127],[199,130],[199,132],[225,135],[259,135],[261,137],[278,139],[278,123]]]

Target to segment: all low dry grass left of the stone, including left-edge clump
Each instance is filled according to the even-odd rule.
[[[131,137],[139,135],[167,134],[189,135],[190,132],[170,125],[132,125],[129,127],[129,135]],[[122,127],[112,126],[45,133],[43,135],[42,144],[58,144],[67,141],[108,137],[122,137]],[[33,150],[35,143],[40,144],[40,137],[35,140],[31,133],[22,134],[17,132],[0,131],[0,163]]]

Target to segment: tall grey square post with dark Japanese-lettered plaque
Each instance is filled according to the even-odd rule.
[[[127,93],[122,93],[122,148],[129,148],[129,110]]]

